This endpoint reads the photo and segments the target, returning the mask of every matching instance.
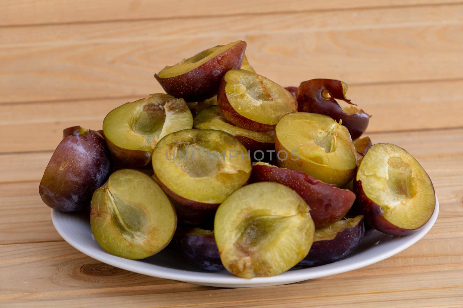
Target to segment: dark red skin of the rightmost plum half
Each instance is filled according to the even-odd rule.
[[[390,223],[384,217],[384,211],[382,211],[381,206],[377,205],[365,194],[362,181],[354,179],[353,189],[357,196],[356,204],[359,211],[365,217],[365,220],[376,230],[393,236],[406,236],[420,229],[404,229]]]

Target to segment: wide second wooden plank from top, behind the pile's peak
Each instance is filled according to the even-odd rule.
[[[451,5],[4,28],[0,101],[143,97],[160,91],[153,73],[166,64],[237,39],[282,85],[463,80],[462,14]]]

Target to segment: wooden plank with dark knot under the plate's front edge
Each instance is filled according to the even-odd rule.
[[[434,228],[430,233],[433,231]],[[97,305],[104,303],[108,296],[116,296],[113,300],[119,307],[143,305],[147,301],[151,305],[169,307],[188,303],[238,305],[283,298],[302,302],[317,298],[333,303],[332,296],[345,298],[368,294],[384,299],[404,290],[425,294],[434,288],[442,291],[463,287],[458,284],[463,282],[462,254],[463,246],[459,241],[426,236],[404,252],[356,271],[255,292],[253,289],[200,287],[138,275],[95,261],[64,242],[2,245],[0,268],[5,279],[0,283],[0,299],[8,304],[33,302],[46,307],[85,306],[90,302]],[[428,271],[429,268],[432,271]],[[19,272],[27,275],[18,275]],[[346,285],[349,288],[346,289]]]

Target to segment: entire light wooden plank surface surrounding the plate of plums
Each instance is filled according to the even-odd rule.
[[[0,3],[1,307],[462,307],[463,2],[453,0]],[[441,211],[394,257],[297,284],[219,289],[102,264],[56,233],[38,182],[72,125],[161,91],[153,73],[244,39],[287,85],[341,79],[368,135],[412,153]]]

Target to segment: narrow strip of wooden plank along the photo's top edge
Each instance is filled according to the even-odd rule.
[[[227,16],[269,14],[274,12],[297,12],[314,10],[348,10],[353,8],[368,8],[382,6],[417,6],[454,3],[451,0],[389,0],[387,3],[379,0],[359,0],[345,2],[340,0],[318,1],[244,1],[233,2],[198,0],[194,2],[174,0],[138,0],[112,1],[111,5],[104,0],[79,1],[70,0],[4,0],[0,3],[3,12],[0,26],[30,25],[52,23],[81,23],[106,20],[134,19],[168,19],[191,18],[204,16]]]

